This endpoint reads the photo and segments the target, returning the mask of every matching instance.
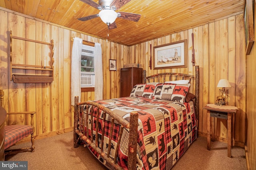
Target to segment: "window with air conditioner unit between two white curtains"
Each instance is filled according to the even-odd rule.
[[[94,87],[94,47],[82,45],[81,53],[81,87]]]

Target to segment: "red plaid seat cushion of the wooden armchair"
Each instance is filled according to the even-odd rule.
[[[6,132],[4,149],[16,144],[33,132],[33,128],[29,125],[8,125],[4,127],[4,130]]]

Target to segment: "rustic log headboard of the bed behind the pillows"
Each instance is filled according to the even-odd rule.
[[[195,113],[196,119],[198,121],[199,118],[199,66],[195,66],[195,75],[183,74],[183,73],[158,73],[155,75],[150,75],[146,77],[146,70],[144,70],[144,83],[152,83],[152,82],[165,82],[172,80],[189,80],[192,84],[192,91],[196,96],[195,99]]]

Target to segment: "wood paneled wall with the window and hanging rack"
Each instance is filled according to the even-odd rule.
[[[36,135],[72,130],[74,125],[71,106],[71,40],[80,37],[89,42],[99,42],[102,46],[104,69],[104,98],[119,97],[119,71],[109,71],[109,59],[127,57],[128,47],[106,42],[100,38],[82,34],[56,24],[35,20],[23,14],[0,10],[0,89],[4,90],[4,106],[8,112],[36,111]],[[10,81],[10,58],[8,56],[9,33],[13,36],[42,42],[54,40],[54,81],[52,83],[14,83]],[[46,46],[46,45],[45,45]],[[49,47],[40,43],[14,41],[12,55],[15,63],[44,65],[50,59]],[[118,56],[118,57],[117,57]],[[45,71],[13,69],[13,73],[44,75]],[[82,93],[81,100],[94,100],[94,92]],[[6,123],[24,124],[29,117],[9,116]],[[64,130],[63,130],[64,129]]]

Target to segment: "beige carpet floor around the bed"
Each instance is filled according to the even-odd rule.
[[[35,152],[12,153],[5,160],[28,161],[28,170],[107,170],[87,148],[73,148],[73,132],[35,140],[35,146]],[[232,158],[228,158],[226,143],[212,142],[211,150],[206,146],[205,137],[197,138],[172,170],[247,169],[244,148],[233,147]]]

